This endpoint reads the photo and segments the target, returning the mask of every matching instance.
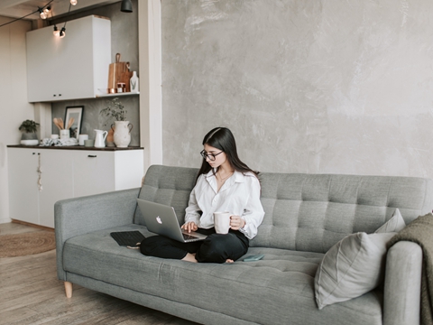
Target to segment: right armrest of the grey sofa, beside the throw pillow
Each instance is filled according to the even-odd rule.
[[[386,257],[383,298],[384,325],[419,324],[422,249],[418,244],[401,241]]]

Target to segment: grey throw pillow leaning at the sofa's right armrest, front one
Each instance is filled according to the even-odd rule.
[[[382,281],[386,243],[395,233],[349,235],[332,246],[318,266],[315,297],[318,309],[373,290]]]

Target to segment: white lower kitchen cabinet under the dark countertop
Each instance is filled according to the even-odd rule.
[[[143,149],[8,146],[7,156],[10,218],[49,228],[58,200],[138,188],[143,179]]]

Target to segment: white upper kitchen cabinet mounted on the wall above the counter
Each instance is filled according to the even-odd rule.
[[[111,22],[91,15],[69,21],[62,39],[52,32],[27,32],[28,101],[95,98],[108,85]]]

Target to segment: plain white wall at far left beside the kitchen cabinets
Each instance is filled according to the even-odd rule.
[[[0,24],[11,19],[0,16]],[[25,32],[32,23],[15,22],[0,27],[0,223],[10,221],[7,181],[8,144],[19,144],[18,127],[25,119],[34,119],[27,102]],[[23,198],[24,199],[24,198]]]

